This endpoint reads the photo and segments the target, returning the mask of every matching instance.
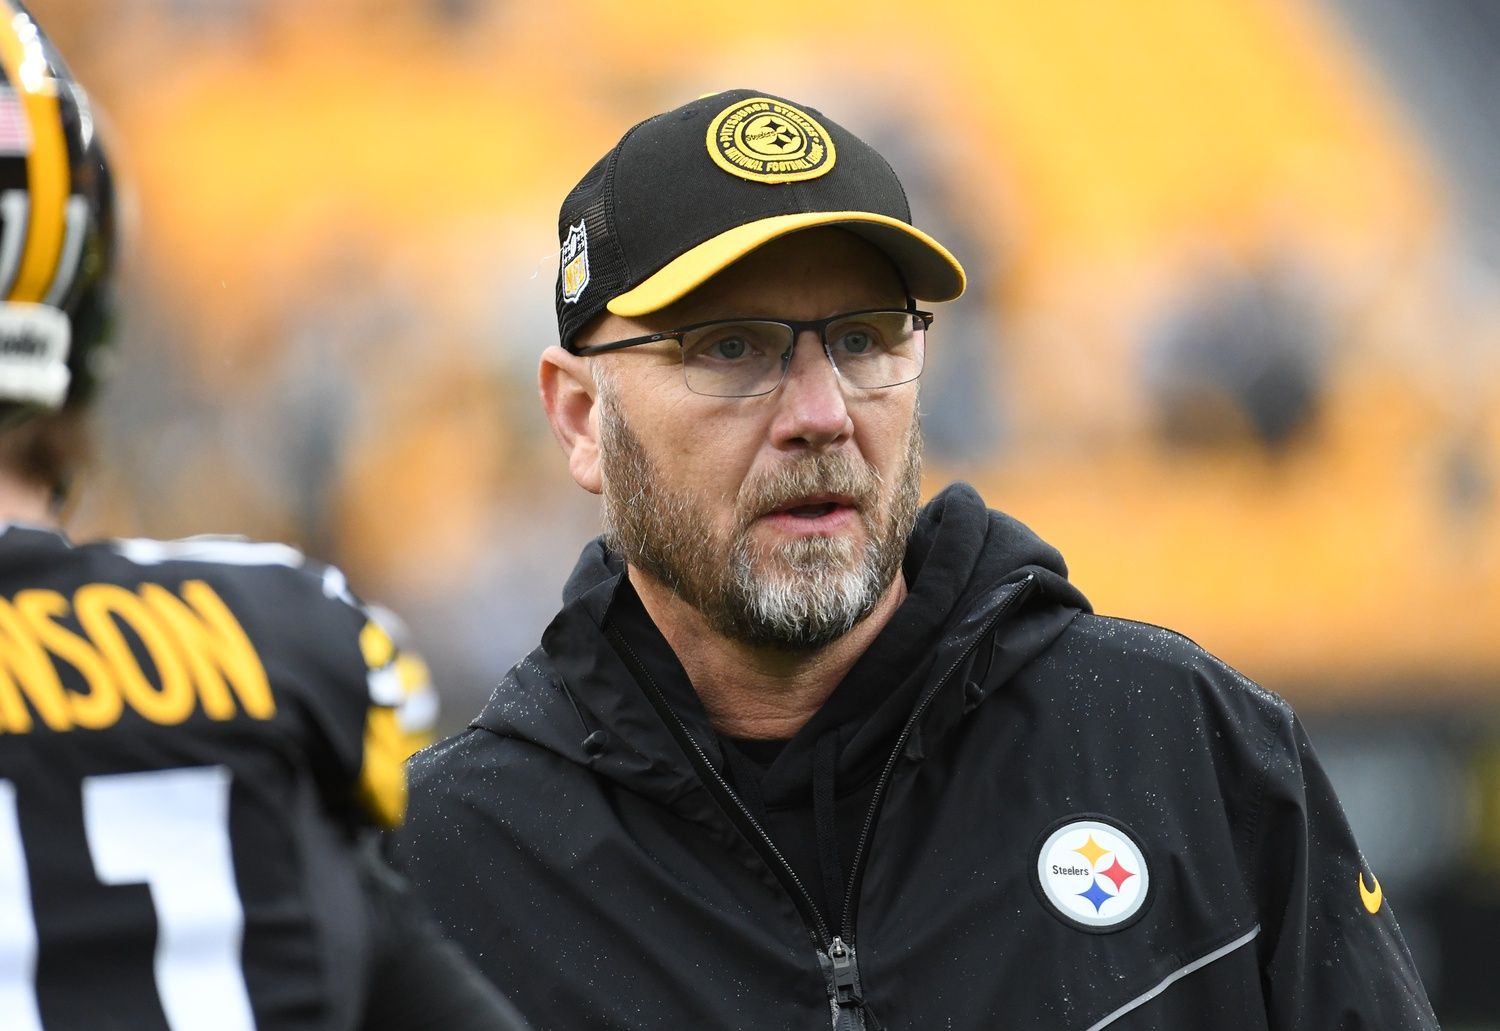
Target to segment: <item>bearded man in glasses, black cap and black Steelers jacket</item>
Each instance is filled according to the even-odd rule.
[[[954,485],[963,270],[819,111],[650,119],[562,203],[540,389],[603,497],[393,852],[546,1028],[1432,1028],[1296,717]]]

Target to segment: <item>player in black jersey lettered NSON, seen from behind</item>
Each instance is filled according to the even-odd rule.
[[[374,852],[420,729],[398,707],[430,692],[408,705],[420,669],[338,570],[57,530],[114,194],[87,96],[12,0],[0,72],[0,1025],[524,1026]]]

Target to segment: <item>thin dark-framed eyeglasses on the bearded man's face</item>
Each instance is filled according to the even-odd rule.
[[[676,341],[682,348],[687,389],[710,398],[756,398],[771,393],[792,365],[802,333],[813,332],[838,377],[864,390],[910,383],[922,374],[932,312],[861,311],[806,323],[768,318],[720,318],[666,333],[580,347],[574,354],[604,354],[639,344]]]

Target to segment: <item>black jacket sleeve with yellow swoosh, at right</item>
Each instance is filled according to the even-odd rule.
[[[1256,824],[1260,960],[1272,1028],[1437,1028],[1395,914],[1300,720],[1278,705]]]

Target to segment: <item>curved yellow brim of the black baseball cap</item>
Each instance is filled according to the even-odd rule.
[[[849,230],[884,251],[902,273],[912,297],[918,300],[952,300],[968,284],[963,266],[944,245],[900,219],[873,212],[804,212],[772,215],[704,240],[662,266],[634,290],[627,290],[610,300],[608,308],[624,318],[658,312],[756,248],[790,233],[822,225]]]

